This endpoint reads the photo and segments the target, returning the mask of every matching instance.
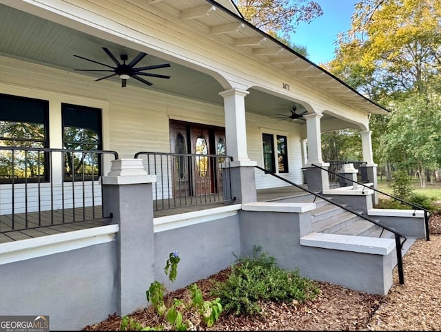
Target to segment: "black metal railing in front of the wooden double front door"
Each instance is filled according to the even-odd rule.
[[[231,156],[137,152],[147,174],[156,175],[154,210],[232,200]]]

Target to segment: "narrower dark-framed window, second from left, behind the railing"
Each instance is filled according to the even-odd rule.
[[[75,150],[100,150],[101,110],[79,105],[61,104],[63,121],[63,148]],[[93,152],[67,152],[64,160],[65,180],[85,178],[97,180],[101,158]]]

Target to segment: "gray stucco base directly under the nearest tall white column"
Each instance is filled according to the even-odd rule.
[[[257,200],[254,166],[231,167],[233,203],[253,203]],[[236,199],[234,199],[236,198]]]

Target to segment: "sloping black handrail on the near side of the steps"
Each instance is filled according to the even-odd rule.
[[[318,194],[318,193],[315,192],[315,191],[311,191],[311,190],[309,190],[309,189],[306,189],[305,187],[301,187],[300,185],[297,185],[296,183],[291,182],[290,180],[287,180],[286,178],[283,178],[283,177],[281,177],[281,176],[278,176],[278,175],[275,174],[275,173],[269,172],[269,171],[267,171],[265,168],[262,168],[262,167],[260,167],[260,166],[254,166],[254,167],[256,167],[257,169],[260,169],[260,170],[263,171],[263,172],[265,172],[265,174],[270,174],[270,175],[272,175],[272,176],[274,176],[274,177],[276,177],[276,178],[278,178],[278,179],[280,179],[280,180],[285,181],[286,183],[289,183],[290,185],[294,185],[295,187],[298,187],[299,189],[301,189],[301,190],[303,190],[303,191],[307,191],[309,194],[312,194],[312,195],[314,195],[314,196],[316,196],[316,197],[318,197],[318,198],[321,198],[322,200],[326,200],[328,203],[331,203],[332,205],[336,205],[337,207],[340,207],[341,209],[344,209],[344,210],[350,212],[351,214],[355,214],[356,216],[358,216],[358,217],[360,217],[360,218],[362,218],[362,219],[365,219],[365,220],[367,220],[367,221],[369,221],[369,222],[371,222],[371,223],[373,223],[373,224],[375,224],[375,225],[377,225],[377,226],[379,226],[379,227],[382,227],[382,229],[387,229],[387,231],[390,231],[391,233],[395,234],[395,245],[396,245],[396,251],[397,251],[398,277],[399,277],[399,280],[400,280],[400,284],[404,284],[404,269],[403,269],[403,266],[402,266],[402,254],[401,254],[401,250],[402,250],[402,245],[403,245],[404,242],[406,242],[406,240],[407,240],[407,237],[406,237],[406,236],[400,234],[398,231],[396,231],[395,229],[393,229],[393,228],[391,228],[391,227],[387,227],[387,226],[381,225],[381,224],[380,224],[379,222],[377,222],[376,220],[373,220],[373,219],[371,219],[371,218],[368,218],[367,216],[364,216],[364,215],[362,215],[362,214],[359,214],[358,212],[353,211],[353,210],[349,209],[348,207],[345,207],[344,205],[341,205],[341,204],[339,204],[339,203],[336,203],[336,202],[334,202],[333,200],[331,200],[331,199],[329,199],[329,198],[327,198],[327,197],[325,197],[325,196],[322,196],[322,195]],[[403,240],[402,242],[400,242],[400,238],[404,238],[404,240]]]

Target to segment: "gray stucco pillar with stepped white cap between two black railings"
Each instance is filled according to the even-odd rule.
[[[145,307],[145,290],[154,282],[154,177],[144,175],[140,161],[114,160],[110,176],[102,179],[104,215],[112,214],[111,222],[119,225],[115,271],[118,284],[114,287],[116,313],[121,316]]]

